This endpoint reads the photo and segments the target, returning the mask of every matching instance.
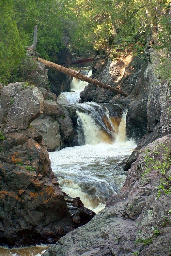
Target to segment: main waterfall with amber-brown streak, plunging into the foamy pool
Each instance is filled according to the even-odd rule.
[[[107,106],[97,103],[76,105],[78,118],[79,144],[126,142],[126,114],[114,116]]]

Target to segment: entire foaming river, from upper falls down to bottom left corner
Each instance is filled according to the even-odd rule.
[[[79,146],[51,152],[49,157],[61,189],[71,197],[79,196],[85,207],[98,213],[107,198],[121,189],[126,176],[116,165],[131,154],[136,144],[126,137],[126,110],[118,105],[111,110],[108,104],[78,103],[80,91],[87,84],[74,78],[71,93],[61,93],[57,100],[77,110]],[[41,256],[46,248],[1,246],[0,256]]]

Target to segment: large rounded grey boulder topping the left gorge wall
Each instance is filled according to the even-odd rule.
[[[6,89],[8,86],[6,86]],[[18,86],[20,89],[20,87]],[[43,95],[40,90],[28,88],[19,91],[11,102],[6,126],[16,129],[27,129],[36,117],[43,113]]]

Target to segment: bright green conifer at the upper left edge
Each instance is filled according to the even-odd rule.
[[[0,82],[6,83],[25,55],[25,39],[20,37],[12,0],[0,1]]]

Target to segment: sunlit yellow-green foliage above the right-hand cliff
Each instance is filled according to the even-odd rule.
[[[156,8],[157,6],[157,8]],[[140,54],[149,32],[160,47],[170,42],[169,0],[76,0],[77,27],[72,35],[76,53],[133,51]],[[114,56],[113,56],[114,58]]]

